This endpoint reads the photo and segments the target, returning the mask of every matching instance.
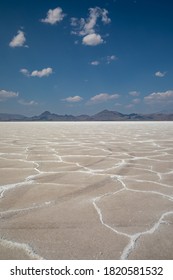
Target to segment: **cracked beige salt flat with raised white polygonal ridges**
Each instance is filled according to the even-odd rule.
[[[0,123],[0,259],[173,259],[173,123]]]

